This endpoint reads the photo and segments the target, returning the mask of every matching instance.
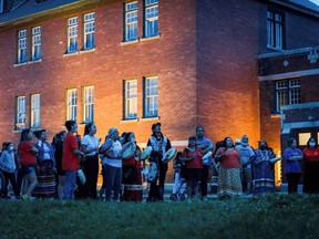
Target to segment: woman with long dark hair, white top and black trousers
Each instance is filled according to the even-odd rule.
[[[81,141],[81,150],[85,154],[83,172],[86,178],[84,185],[84,197],[96,199],[96,185],[99,176],[99,145],[100,139],[94,136],[96,125],[89,123],[84,128],[84,137]]]

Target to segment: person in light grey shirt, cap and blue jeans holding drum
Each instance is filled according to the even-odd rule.
[[[104,165],[105,177],[105,199],[110,201],[119,200],[122,183],[122,144],[119,141],[117,128],[110,128],[109,136],[104,144],[99,148],[99,154],[103,155],[102,164]],[[114,190],[113,198],[112,189]]]

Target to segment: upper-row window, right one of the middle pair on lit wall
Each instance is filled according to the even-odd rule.
[[[84,15],[84,50],[95,48],[95,13]]]

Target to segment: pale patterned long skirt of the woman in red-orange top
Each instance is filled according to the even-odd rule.
[[[241,195],[241,181],[239,168],[219,168],[218,198],[227,198]]]

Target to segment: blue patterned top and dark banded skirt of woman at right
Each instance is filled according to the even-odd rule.
[[[265,193],[275,191],[275,173],[274,164],[270,159],[275,155],[271,150],[255,150],[255,158],[253,166],[253,195],[260,195]]]

